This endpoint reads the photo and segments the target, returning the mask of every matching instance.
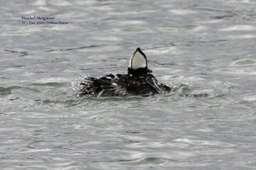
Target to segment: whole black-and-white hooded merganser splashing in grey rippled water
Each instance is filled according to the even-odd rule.
[[[157,81],[147,67],[147,58],[140,48],[136,49],[129,61],[127,74],[109,74],[99,79],[86,77],[80,83],[80,95],[122,97],[131,95],[154,95],[168,93],[171,87]]]

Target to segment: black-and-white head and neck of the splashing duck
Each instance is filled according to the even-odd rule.
[[[146,55],[140,48],[136,49],[129,61],[128,74],[146,74],[152,71],[148,69],[148,61]]]

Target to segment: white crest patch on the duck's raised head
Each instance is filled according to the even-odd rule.
[[[147,59],[138,50],[136,50],[129,61],[129,67],[136,70],[138,68],[145,68],[145,66],[147,66]]]

